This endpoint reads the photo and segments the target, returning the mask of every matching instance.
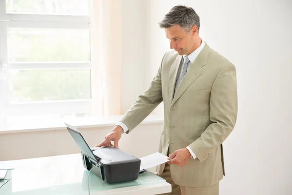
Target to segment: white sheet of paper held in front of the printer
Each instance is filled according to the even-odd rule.
[[[153,153],[152,155],[148,155],[148,156],[144,156],[141,159],[141,165],[140,165],[140,170],[143,169],[148,169],[151,167],[155,167],[157,165],[160,165],[164,162],[167,162],[169,160],[167,160],[167,156],[157,152],[157,153]]]

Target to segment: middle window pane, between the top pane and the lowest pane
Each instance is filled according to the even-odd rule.
[[[88,29],[8,28],[9,62],[90,61]]]

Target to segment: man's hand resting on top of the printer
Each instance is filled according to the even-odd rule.
[[[114,141],[114,147],[119,148],[119,140],[122,137],[123,128],[116,125],[113,130],[105,137],[105,140],[95,147],[113,146],[111,141]]]

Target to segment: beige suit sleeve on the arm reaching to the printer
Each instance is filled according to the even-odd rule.
[[[125,116],[120,120],[120,122],[124,123],[128,127],[126,134],[128,134],[139,123],[141,123],[163,101],[161,71],[162,62],[148,90],[138,97],[138,100],[131,106],[131,108],[126,112]]]

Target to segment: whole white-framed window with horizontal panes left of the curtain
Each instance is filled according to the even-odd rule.
[[[88,0],[0,0],[0,117],[91,112]]]

